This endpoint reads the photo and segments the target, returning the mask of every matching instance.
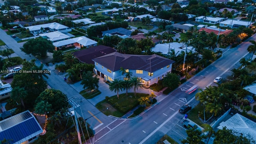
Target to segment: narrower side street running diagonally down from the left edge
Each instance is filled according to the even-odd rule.
[[[2,29],[0,29],[0,38],[3,40],[8,46],[8,48],[12,48],[14,52],[20,56],[22,59],[26,60],[32,60],[36,59],[34,56],[26,55],[24,52],[20,50],[20,47],[23,46],[25,42],[17,43],[16,40],[14,40],[11,36],[7,35],[6,32],[4,32]],[[40,65],[40,60],[36,61],[37,65]],[[47,66],[44,65],[45,69],[49,69]],[[55,72],[52,72],[49,78],[46,80],[48,85],[51,88],[61,90],[64,94],[68,96],[69,99],[74,100],[77,104],[80,104],[80,108],[77,110],[78,114],[80,116],[83,116],[85,119],[88,119],[88,123],[92,126],[92,128],[95,128],[99,125],[102,125],[103,123],[109,124],[114,120],[114,118],[110,118],[108,116],[105,116],[102,113],[99,113],[99,110],[94,107],[88,100],[84,99],[74,88],[72,88],[70,85],[68,85],[62,78],[60,78]],[[97,114],[97,117],[100,120],[97,120],[95,118],[90,118],[92,114],[88,112],[88,110],[92,114]]]

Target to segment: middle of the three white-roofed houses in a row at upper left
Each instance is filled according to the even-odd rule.
[[[48,32],[48,33],[39,34],[39,35],[42,36],[43,38],[46,37],[47,40],[50,40],[52,42],[57,42],[60,40],[66,40],[70,38],[70,36],[63,34],[62,32],[59,32],[59,31]]]

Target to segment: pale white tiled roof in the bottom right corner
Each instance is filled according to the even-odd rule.
[[[246,137],[250,135],[250,138],[256,140],[256,123],[238,113],[226,122],[221,122],[218,129],[222,130],[225,126],[228,130],[233,130],[234,132],[238,132],[238,134],[242,133]]]

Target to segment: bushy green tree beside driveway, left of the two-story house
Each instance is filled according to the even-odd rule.
[[[94,90],[95,88],[99,87],[99,80],[100,79],[97,77],[97,75],[94,76],[94,74],[91,71],[87,71],[84,72],[82,75],[81,84],[84,85],[83,88]]]

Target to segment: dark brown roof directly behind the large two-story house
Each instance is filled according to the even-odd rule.
[[[110,54],[112,52],[116,52],[116,50],[109,46],[99,45],[92,48],[86,48],[84,50],[76,51],[73,54],[74,56],[76,56],[76,58],[78,58],[80,62],[84,62],[86,64],[94,64],[94,61],[92,61],[92,59],[104,56],[106,54]]]

